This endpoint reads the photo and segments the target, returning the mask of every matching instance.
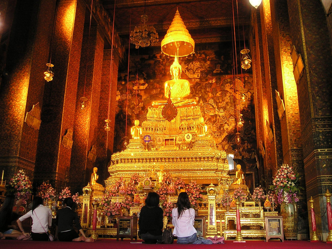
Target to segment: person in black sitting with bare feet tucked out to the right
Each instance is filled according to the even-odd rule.
[[[92,238],[88,238],[80,224],[80,219],[75,212],[76,204],[71,197],[67,197],[63,201],[64,208],[56,212],[55,221],[55,239],[60,241],[85,241],[93,242]],[[81,232],[82,236],[73,228],[73,221],[75,221],[76,228]]]

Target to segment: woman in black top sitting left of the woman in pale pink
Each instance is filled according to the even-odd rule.
[[[159,207],[159,195],[150,192],[145,199],[145,206],[139,213],[141,239],[147,244],[161,242],[163,225],[163,209]]]

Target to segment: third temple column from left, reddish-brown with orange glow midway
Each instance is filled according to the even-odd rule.
[[[97,125],[102,77],[104,39],[99,26],[85,26],[81,52],[76,112],[73,132],[73,146],[70,161],[70,184],[74,192],[80,191],[90,181],[96,160]],[[86,97],[82,109],[81,97]],[[98,173],[99,174],[99,173]]]

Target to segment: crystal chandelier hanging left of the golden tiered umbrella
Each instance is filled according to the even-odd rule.
[[[130,43],[135,44],[136,48],[147,47],[149,45],[157,45],[159,41],[158,33],[153,26],[148,26],[147,15],[145,15],[145,1],[144,1],[144,15],[141,15],[141,24],[136,26],[130,32]]]

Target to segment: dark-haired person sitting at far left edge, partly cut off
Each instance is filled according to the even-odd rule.
[[[20,199],[16,202],[16,211],[13,212],[13,207],[15,203],[15,196],[6,196],[1,209],[0,209],[0,238],[13,238],[16,239],[18,236],[22,235],[22,232],[18,231],[16,225],[12,225],[12,221],[16,220],[19,215],[19,208],[22,205],[23,200]]]

